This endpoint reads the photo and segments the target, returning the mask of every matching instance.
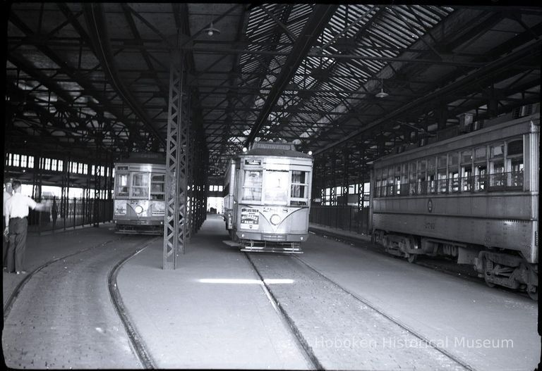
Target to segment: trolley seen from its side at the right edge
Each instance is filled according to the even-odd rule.
[[[413,262],[444,255],[538,298],[540,113],[374,162],[373,239]]]

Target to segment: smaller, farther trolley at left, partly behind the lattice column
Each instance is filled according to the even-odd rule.
[[[115,231],[163,234],[166,161],[162,153],[132,153],[115,163]]]

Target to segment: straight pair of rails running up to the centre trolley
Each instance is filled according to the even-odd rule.
[[[299,344],[299,347],[303,350],[303,352],[306,355],[306,358],[311,362],[313,365],[313,368],[315,370],[325,370],[325,367],[323,366],[322,362],[318,359],[318,356],[315,355],[315,352],[313,351],[313,348],[309,344],[309,341],[306,336],[303,335],[302,329],[299,328],[298,325],[296,325],[296,322],[294,318],[289,314],[288,306],[284,306],[281,303],[280,298],[273,293],[273,290],[269,287],[269,285],[266,283],[265,275],[260,272],[260,269],[258,268],[258,264],[256,264],[253,261],[253,258],[251,258],[250,253],[244,253],[248,261],[251,263],[252,268],[255,270],[256,274],[258,275],[259,279],[262,282],[262,287],[265,291],[265,294],[270,299],[272,306],[277,310],[277,313],[282,317],[284,322],[288,325],[288,327],[291,329],[292,334],[294,334],[294,337]],[[261,254],[258,253],[258,256],[265,256],[267,254]],[[256,256],[256,254],[253,254],[253,256]],[[359,302],[362,306],[366,306],[368,308],[371,308],[371,310],[374,310],[375,313],[378,313],[381,317],[385,318],[385,320],[392,322],[392,324],[397,325],[401,329],[405,330],[408,334],[413,335],[416,337],[421,343],[428,344],[431,348],[433,348],[435,351],[441,354],[442,357],[447,358],[450,360],[450,364],[457,365],[460,369],[463,370],[471,370],[474,371],[474,368],[468,365],[464,360],[461,358],[454,356],[454,354],[447,351],[445,348],[442,348],[438,344],[435,343],[435,341],[432,341],[428,339],[427,337],[423,336],[423,334],[417,332],[416,330],[412,329],[408,325],[404,324],[403,322],[397,320],[397,318],[392,317],[391,315],[388,315],[383,311],[382,309],[374,306],[372,303],[369,303],[366,301],[366,299],[361,298],[357,294],[354,294],[353,292],[349,291],[348,289],[342,287],[339,283],[335,282],[330,277],[327,277],[322,272],[318,271],[317,269],[313,268],[313,266],[306,263],[302,256],[296,256],[291,254],[282,254],[281,256],[284,257],[284,259],[290,259],[294,260],[295,262],[299,263],[303,268],[306,270],[313,272],[315,275],[318,275],[323,282],[325,282],[325,286],[327,287],[335,287],[342,291],[344,294],[347,294],[347,296],[350,296],[355,301]],[[329,367],[328,367],[329,368]],[[340,368],[340,367],[339,367]]]

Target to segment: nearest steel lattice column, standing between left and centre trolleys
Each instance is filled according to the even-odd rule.
[[[188,120],[183,117],[183,60],[171,52],[166,144],[166,214],[163,269],[176,269],[186,244]]]

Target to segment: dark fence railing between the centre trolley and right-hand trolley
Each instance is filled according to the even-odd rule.
[[[369,234],[369,208],[357,206],[311,206],[309,222]]]

